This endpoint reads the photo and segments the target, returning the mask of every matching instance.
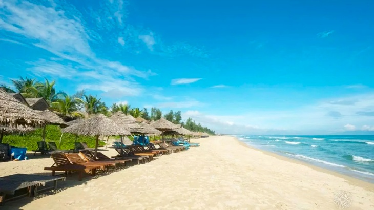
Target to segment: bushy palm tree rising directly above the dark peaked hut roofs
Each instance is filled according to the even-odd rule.
[[[31,96],[41,97],[44,98],[48,103],[55,102],[61,97],[67,96],[67,94],[63,91],[59,91],[56,93],[56,89],[54,85],[56,81],[49,82],[48,79],[44,83],[38,82],[35,86],[27,88],[27,92]]]

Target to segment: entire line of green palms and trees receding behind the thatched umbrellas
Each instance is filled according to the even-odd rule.
[[[65,119],[66,116],[73,118],[84,117],[81,110],[84,110],[88,115],[92,114],[105,114],[110,117],[115,112],[121,111],[124,114],[130,114],[133,117],[142,117],[146,120],[158,120],[161,117],[175,123],[181,124],[184,128],[195,132],[206,132],[215,134],[209,128],[202,127],[200,123],[196,124],[192,118],[188,118],[185,122],[182,121],[181,111],[170,110],[167,114],[162,114],[162,111],[157,108],[151,108],[150,112],[147,108],[140,109],[138,107],[132,108],[129,104],[113,103],[110,107],[97,96],[91,94],[87,95],[85,90],[76,92],[69,96],[64,91],[56,91],[55,81],[45,79],[43,82],[37,81],[33,78],[12,79],[15,90],[6,85],[0,85],[0,88],[8,93],[20,93],[25,98],[44,98],[51,106],[51,110],[61,113]]]

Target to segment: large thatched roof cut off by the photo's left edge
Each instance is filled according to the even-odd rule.
[[[0,124],[41,124],[45,120],[25,104],[0,89]]]

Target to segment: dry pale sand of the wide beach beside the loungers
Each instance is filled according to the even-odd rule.
[[[71,176],[59,192],[0,208],[338,209],[334,195],[347,191],[349,209],[374,209],[371,183],[258,151],[233,137],[194,141],[201,146],[82,182]],[[44,173],[51,164],[47,157],[0,163],[0,176]]]

